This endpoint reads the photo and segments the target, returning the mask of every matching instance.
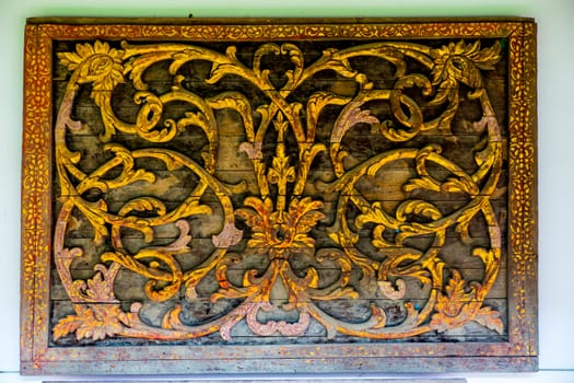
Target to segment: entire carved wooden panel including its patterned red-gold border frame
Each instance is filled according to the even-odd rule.
[[[22,371],[532,370],[535,26],[34,20]]]

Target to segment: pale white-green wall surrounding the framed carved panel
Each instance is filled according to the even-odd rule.
[[[574,382],[574,0],[0,0],[0,382],[19,371],[22,62],[30,16],[488,16],[539,24],[540,369],[470,383]],[[464,374],[457,374],[462,376]],[[382,375],[383,376],[383,375]],[[396,378],[396,376],[395,376]]]

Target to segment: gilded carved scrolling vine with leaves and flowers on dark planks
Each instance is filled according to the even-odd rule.
[[[262,61],[268,56],[284,56],[291,62],[292,69],[282,73],[286,79],[282,86],[271,80],[273,70],[263,69]],[[232,329],[242,321],[257,336],[302,336],[313,321],[325,328],[328,337],[343,334],[373,339],[407,338],[445,332],[471,321],[503,332],[499,313],[483,305],[501,263],[501,229],[492,198],[502,172],[503,148],[500,126],[481,76],[482,70],[492,69],[500,60],[497,43],[488,48],[481,48],[479,42],[453,43],[441,48],[413,43],[374,43],[326,49],[311,65],[304,62],[300,47],[290,43],[261,45],[253,55],[251,66],[242,61],[234,46],[220,53],[187,44],[122,43],[119,49],[95,42],[79,44],[75,51],[58,54],[58,57],[71,76],[55,127],[60,196],[54,254],[59,278],[75,313],[59,320],[54,327],[54,339],[73,333],[78,339],[93,340],[107,337],[177,340],[213,333],[231,339]],[[378,89],[367,74],[353,68],[352,60],[360,57],[376,57],[390,63],[395,70],[393,86]],[[265,94],[268,103],[251,105],[251,100],[237,91],[223,91],[209,97],[195,93],[185,85],[186,79],[179,70],[196,60],[211,62],[208,84],[220,84],[230,77],[241,78]],[[424,70],[410,72],[409,61],[418,62]],[[173,79],[172,89],[163,94],[150,91],[144,76],[159,62],[168,62]],[[302,83],[324,71],[336,72],[354,83],[354,94],[315,91],[305,104],[289,101]],[[138,112],[132,121],[121,119],[113,108],[115,90],[128,81],[136,89],[133,105]],[[477,101],[482,108],[482,118],[475,123],[473,129],[483,140],[473,153],[471,173],[442,155],[440,144],[401,146],[424,132],[448,134],[460,104],[461,86],[470,90],[466,97]],[[72,118],[81,89],[91,90],[90,96],[98,107],[104,126],[99,140],[107,142],[104,150],[109,154],[108,160],[90,171],[81,166],[82,153],[71,150],[67,141],[67,135],[83,127],[82,121]],[[412,90],[419,90],[423,101],[410,96]],[[190,112],[176,119],[164,118],[165,106],[173,102],[188,105]],[[374,102],[389,105],[391,116],[387,120],[370,111],[368,105]],[[328,106],[337,106],[339,114],[325,143],[317,140],[316,134],[319,115]],[[425,107],[436,107],[441,113],[426,118]],[[215,176],[221,139],[216,111],[221,109],[231,109],[241,116],[246,141],[239,149],[250,160],[257,182],[258,194],[242,197],[239,206],[235,197],[241,195],[242,185],[229,185]],[[254,118],[255,115],[259,118]],[[350,165],[345,138],[365,124],[371,126],[371,131],[396,142],[397,149]],[[199,128],[207,142],[201,160],[162,146],[191,128]],[[148,144],[130,150],[114,141],[117,135],[132,135]],[[296,148],[286,148],[288,136],[294,138]],[[272,156],[266,161],[262,148],[269,137],[273,138]],[[297,158],[289,155],[288,149],[295,149]],[[335,175],[325,193],[337,198],[328,206],[317,196],[305,194],[312,164],[319,154],[328,158]],[[110,209],[105,196],[113,190],[136,183],[153,185],[156,181],[153,171],[138,165],[142,160],[153,160],[171,172],[185,170],[198,181],[175,207],[159,197],[136,196],[120,208]],[[396,162],[412,164],[415,174],[402,185],[403,193],[410,197],[388,208],[380,201],[368,201],[358,192],[358,184],[364,177],[377,177]],[[430,167],[438,167],[448,176],[437,177]],[[101,197],[86,198],[89,190],[97,190]],[[214,213],[202,199],[208,192],[215,196],[220,207],[221,230],[211,239],[212,254],[204,254],[199,264],[186,269],[181,258],[190,254],[190,218]],[[465,196],[466,202],[445,213],[432,200],[415,197],[418,192]],[[336,209],[331,220],[327,218],[328,209]],[[352,209],[359,214],[350,219],[348,212]],[[73,262],[86,256],[82,247],[66,245],[72,211],[90,223],[94,243],[109,244],[97,255],[99,262],[87,279],[73,277],[71,271]],[[469,254],[483,264],[482,279],[469,281],[445,263],[442,251],[449,228],[456,229],[460,241],[470,241],[468,228],[478,216],[489,228],[490,245],[476,246]],[[239,221],[250,233],[241,253],[231,251],[247,232],[237,229],[242,228]],[[332,242],[319,248],[313,231],[318,230],[320,222],[329,225],[327,232]],[[155,230],[168,224],[179,231],[172,243],[144,246],[136,253],[126,249],[124,230],[139,232],[147,243],[152,243]],[[368,231],[377,257],[358,246],[360,230]],[[418,236],[432,237],[432,244],[425,249],[411,246],[409,240]],[[249,254],[267,257],[265,270],[248,269],[241,282],[230,278],[230,268]],[[308,266],[305,272],[295,271],[291,263],[295,255],[311,257],[314,265],[336,265],[338,277],[321,280],[321,274],[314,266]],[[237,303],[197,324],[186,323],[181,318],[183,303],[176,303],[165,313],[161,326],[152,325],[142,320],[143,303],[132,303],[126,310],[117,299],[115,282],[122,269],[148,280],[144,290],[151,301],[194,302],[198,299],[199,283],[209,275],[215,276],[219,283],[209,299]],[[353,285],[351,274],[356,271],[361,274],[360,282]],[[409,280],[432,287],[424,304],[403,299]],[[286,294],[280,306],[271,298],[278,286]],[[362,321],[345,321],[321,310],[320,302],[358,299],[373,286],[379,297],[402,306],[406,315],[400,323],[389,324],[384,307],[375,300],[371,301],[370,312]],[[295,315],[290,315],[289,321],[260,318],[259,314],[277,309]]]

